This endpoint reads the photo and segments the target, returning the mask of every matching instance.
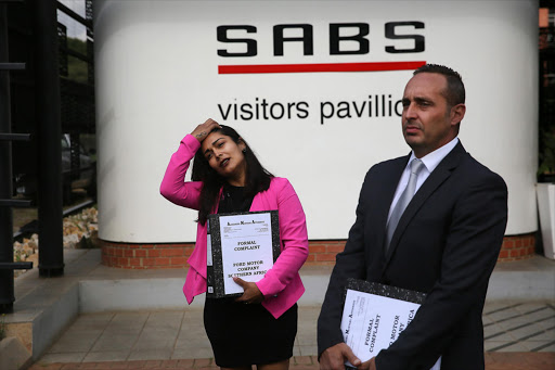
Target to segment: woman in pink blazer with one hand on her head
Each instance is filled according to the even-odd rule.
[[[184,182],[194,156],[191,182]],[[286,370],[297,333],[298,270],[307,259],[305,213],[287,179],[274,177],[231,127],[207,119],[181,140],[162,181],[170,202],[198,209],[196,244],[183,293],[191,304],[206,292],[206,218],[212,213],[278,209],[281,254],[258,282],[233,280],[238,298],[207,298],[204,323],[222,369]]]

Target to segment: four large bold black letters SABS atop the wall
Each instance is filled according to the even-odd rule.
[[[412,48],[396,46],[395,42],[385,47],[385,51],[391,54],[401,53],[420,53],[425,50],[425,39],[420,34],[400,34],[400,27],[412,27],[413,29],[424,29],[424,22],[406,21],[406,22],[388,22],[385,24],[384,37],[388,40],[413,40]],[[285,36],[286,30],[298,29],[301,36]],[[234,44],[234,51],[222,48],[218,49],[218,55],[223,58],[249,58],[258,55],[258,41],[253,37],[231,37],[230,31],[237,34],[237,31],[245,31],[246,36],[256,35],[257,27],[253,25],[227,25],[217,27],[218,41],[227,44]],[[347,31],[351,35],[341,36],[341,31]],[[345,34],[345,33],[344,33]],[[331,23],[328,37],[330,37],[330,55],[360,55],[367,54],[371,51],[370,24],[367,23]],[[285,42],[302,42],[302,54],[314,54],[314,37],[313,26],[310,24],[280,24],[273,26],[273,55],[283,56]],[[346,41],[351,41],[349,48],[345,48]],[[352,42],[354,41],[354,42]],[[358,48],[352,48],[357,44]],[[242,44],[242,51],[236,51],[237,47]],[[403,46],[406,43],[403,42]],[[230,46],[231,47],[231,46]],[[243,51],[244,50],[244,51]]]

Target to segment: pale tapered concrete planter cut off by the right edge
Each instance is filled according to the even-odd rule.
[[[555,259],[555,183],[538,183],[535,191],[543,254],[550,259]]]

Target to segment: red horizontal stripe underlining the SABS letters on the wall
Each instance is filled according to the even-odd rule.
[[[376,72],[416,69],[426,64],[415,62],[373,62],[373,63],[321,63],[321,64],[250,64],[219,65],[218,74],[257,73],[311,73],[311,72]]]

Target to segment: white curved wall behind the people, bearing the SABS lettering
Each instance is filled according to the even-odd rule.
[[[534,180],[538,137],[538,2],[520,1],[109,1],[94,2],[100,238],[118,242],[194,241],[194,212],[158,192],[181,138],[207,117],[235,127],[278,176],[289,178],[307,213],[310,239],[345,239],[354,220],[362,179],[373,164],[404,155],[400,117],[324,119],[323,102],[358,107],[369,95],[401,99],[411,71],[218,74],[219,65],[426,61],[459,71],[466,85],[466,150],[507,182],[507,234],[537,230]],[[423,29],[385,37],[389,22]],[[331,23],[370,24],[370,52],[330,55]],[[287,42],[273,55],[272,27],[311,24],[313,55]],[[253,25],[251,58],[217,39],[222,25]],[[294,35],[294,33],[292,34]],[[345,36],[347,34],[341,34]],[[347,43],[343,43],[347,47]],[[357,44],[354,44],[357,46]],[[308,117],[223,119],[230,103],[306,102]],[[387,106],[387,101],[386,101]],[[352,105],[351,105],[352,107]],[[345,113],[345,111],[343,112]],[[354,115],[351,111],[351,115]]]

